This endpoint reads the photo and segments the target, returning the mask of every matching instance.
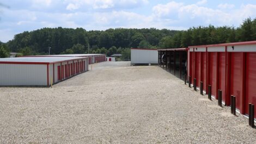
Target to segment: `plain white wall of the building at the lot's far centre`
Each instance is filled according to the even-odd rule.
[[[131,49],[132,64],[158,64],[158,52],[148,49]]]

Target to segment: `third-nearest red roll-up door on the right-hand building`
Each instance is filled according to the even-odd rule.
[[[218,59],[218,89],[222,91],[222,101],[225,102],[225,53],[219,53]]]

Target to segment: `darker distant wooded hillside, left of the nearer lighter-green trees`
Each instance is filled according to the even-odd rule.
[[[8,47],[13,52],[20,52],[23,48],[29,48],[34,53],[48,53],[51,47],[53,54],[65,53],[66,49],[76,44],[84,46],[87,53],[88,43],[90,50],[105,47],[107,50],[114,47],[131,48],[144,43],[148,47],[158,47],[163,37],[174,36],[179,31],[167,29],[107,29],[105,31],[86,31],[83,28],[42,28],[32,32],[17,34],[14,40],[8,42]]]

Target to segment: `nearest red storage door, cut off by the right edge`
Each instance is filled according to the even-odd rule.
[[[246,97],[245,111],[248,114],[248,104],[256,105],[256,53],[247,53],[246,56]],[[256,117],[256,110],[254,110]]]

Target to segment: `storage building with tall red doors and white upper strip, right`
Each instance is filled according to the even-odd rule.
[[[203,82],[206,93],[211,85],[216,99],[222,90],[225,105],[234,95],[236,109],[248,114],[248,103],[256,105],[256,41],[188,47],[188,76],[197,87]]]

